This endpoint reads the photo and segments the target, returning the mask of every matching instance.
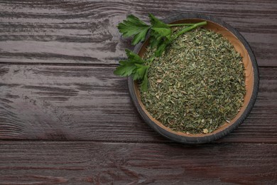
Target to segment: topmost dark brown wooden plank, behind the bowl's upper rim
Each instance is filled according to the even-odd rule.
[[[126,14],[143,20],[179,13],[222,18],[249,41],[260,66],[277,66],[276,1],[0,1],[0,63],[114,64],[132,48],[116,29]]]

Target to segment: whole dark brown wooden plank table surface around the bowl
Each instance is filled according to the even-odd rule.
[[[227,137],[176,144],[141,120],[116,24],[222,18],[249,41],[259,97]],[[0,1],[0,184],[277,184],[277,1]]]

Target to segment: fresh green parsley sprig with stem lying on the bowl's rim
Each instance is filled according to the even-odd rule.
[[[130,76],[133,80],[141,81],[141,90],[146,91],[148,87],[148,68],[150,63],[155,57],[159,57],[165,51],[165,48],[170,45],[178,36],[182,35],[186,31],[190,31],[198,26],[203,26],[207,24],[206,21],[200,23],[178,23],[178,24],[167,24],[159,20],[153,14],[148,14],[151,25],[141,21],[134,15],[127,16],[126,20],[119,23],[117,28],[119,32],[122,33],[124,37],[133,36],[131,42],[132,45],[136,45],[139,42],[143,42],[146,39],[146,35],[150,32],[150,46],[155,51],[154,56],[148,63],[143,60],[136,53],[126,49],[127,60],[120,60],[119,66],[114,70],[115,75],[119,76]],[[173,34],[170,27],[173,26],[188,26],[178,33]],[[147,64],[146,64],[147,63]]]

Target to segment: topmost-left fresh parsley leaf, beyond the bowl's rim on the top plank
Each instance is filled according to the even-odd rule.
[[[119,28],[119,32],[122,33],[124,37],[134,36],[132,44],[136,45],[145,40],[146,33],[151,26],[144,23],[136,16],[129,15],[126,20],[118,24],[117,28]]]

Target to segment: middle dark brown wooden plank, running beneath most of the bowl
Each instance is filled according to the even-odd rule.
[[[0,65],[0,138],[168,142],[139,117],[114,67]],[[218,142],[277,142],[277,68],[260,68],[256,105]]]

